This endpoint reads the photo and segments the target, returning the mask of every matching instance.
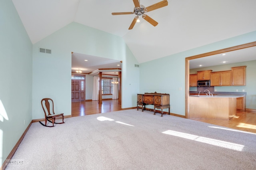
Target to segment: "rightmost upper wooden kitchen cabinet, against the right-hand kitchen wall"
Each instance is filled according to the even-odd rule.
[[[246,85],[246,66],[231,67],[232,69],[232,85]]]

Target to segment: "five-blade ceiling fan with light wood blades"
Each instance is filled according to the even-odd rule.
[[[125,14],[135,14],[136,15],[135,18],[132,21],[132,24],[129,27],[129,30],[132,30],[132,28],[134,27],[134,25],[135,25],[136,21],[138,20],[139,16],[142,16],[142,18],[144,18],[144,20],[146,20],[147,22],[149,22],[153,26],[157,26],[158,22],[156,22],[155,20],[153,20],[152,18],[147,16],[145,13],[150,12],[152,10],[156,10],[158,8],[162,8],[162,7],[168,5],[167,0],[163,0],[161,2],[158,2],[156,4],[148,6],[147,8],[145,8],[145,6],[140,4],[139,0],[133,0],[133,3],[135,5],[133,12],[112,12],[112,15],[125,15]]]

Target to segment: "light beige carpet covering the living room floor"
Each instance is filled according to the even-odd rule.
[[[136,109],[33,123],[6,170],[252,170],[256,134]]]

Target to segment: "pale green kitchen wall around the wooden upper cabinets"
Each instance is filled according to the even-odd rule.
[[[256,57],[256,54],[255,54]],[[226,71],[231,70],[231,67],[246,65],[246,86],[215,86],[214,90],[217,92],[242,92],[244,89],[246,94],[246,108],[256,109],[256,60],[246,61],[240,63],[231,63],[224,65],[217,65],[212,67],[203,67],[198,69],[190,69],[190,73],[194,74],[197,71],[212,70],[214,71]],[[190,87],[191,88],[191,87]],[[196,91],[196,87],[193,87]]]

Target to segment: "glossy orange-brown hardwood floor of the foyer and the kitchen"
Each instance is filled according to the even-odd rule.
[[[102,104],[98,101],[72,102],[72,117],[92,115],[97,113],[106,113],[111,111],[121,111],[121,105],[118,100],[103,100]],[[164,118],[164,117],[163,117]],[[234,128],[247,132],[256,133],[256,113],[237,111],[236,116],[230,120],[209,120],[193,119],[213,125],[219,125],[228,128]]]

